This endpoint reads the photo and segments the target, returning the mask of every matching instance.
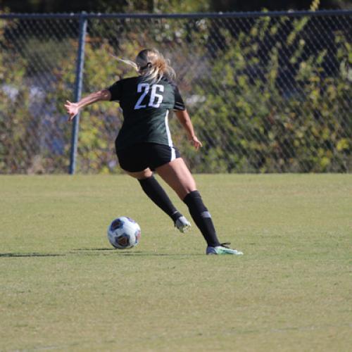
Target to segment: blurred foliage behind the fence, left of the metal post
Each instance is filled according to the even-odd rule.
[[[56,110],[56,90],[63,85],[60,70],[70,68],[70,46],[55,39],[24,40],[16,35],[19,25],[18,20],[0,21],[0,172],[62,172],[68,154],[54,144],[65,144],[66,152],[69,144],[63,115],[58,115],[63,109]]]

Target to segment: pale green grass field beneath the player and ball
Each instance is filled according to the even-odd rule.
[[[244,256],[205,256],[127,176],[1,176],[0,350],[351,351],[351,175],[196,181]]]

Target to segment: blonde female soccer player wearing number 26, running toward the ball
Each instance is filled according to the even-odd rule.
[[[186,203],[189,213],[207,243],[206,254],[243,254],[220,244],[213,220],[196,189],[191,172],[179,151],[172,144],[168,114],[175,111],[187,135],[198,150],[202,146],[172,79],[175,71],[156,49],[144,49],[136,61],[121,60],[137,70],[137,77],[115,82],[111,87],[94,92],[77,103],[66,101],[65,108],[73,120],[84,106],[96,101],[118,101],[123,111],[123,123],[115,141],[120,167],[136,178],[149,198],[185,232],[188,220],[175,208],[164,189],[153,177],[153,170],[167,182]]]

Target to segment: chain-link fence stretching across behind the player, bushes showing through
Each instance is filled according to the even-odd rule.
[[[84,95],[134,74],[111,54],[146,47],[177,72],[203,149],[170,128],[193,172],[351,172],[351,38],[352,11],[0,15],[0,173],[68,172],[78,68]],[[121,121],[117,103],[82,112],[77,172],[120,172]]]

